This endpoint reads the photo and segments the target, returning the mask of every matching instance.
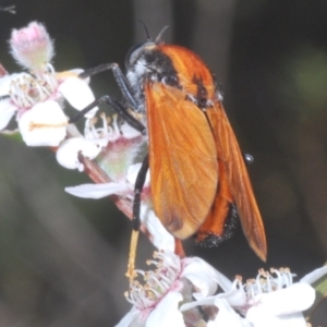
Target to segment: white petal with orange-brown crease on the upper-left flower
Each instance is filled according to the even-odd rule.
[[[28,146],[58,146],[66,135],[66,123],[58,102],[48,100],[24,112],[19,128]]]

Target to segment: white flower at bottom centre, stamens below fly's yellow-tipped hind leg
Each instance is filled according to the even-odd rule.
[[[199,258],[181,259],[172,252],[161,251],[156,252],[155,261],[148,264],[155,265],[155,269],[136,270],[145,284],[131,283],[126,299],[133,307],[117,327],[185,327],[185,314],[180,312],[179,305],[195,295],[192,286],[203,295],[213,295],[217,290],[217,284],[211,281],[214,269]],[[190,312],[186,315],[191,317]],[[201,315],[194,310],[192,319],[197,318],[201,319]],[[196,320],[193,323],[196,326]]]

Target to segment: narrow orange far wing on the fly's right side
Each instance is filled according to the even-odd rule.
[[[263,261],[266,261],[265,229],[237,137],[221,102],[217,101],[214,108],[206,111],[206,114],[213,126],[218,160],[221,165],[225,165],[231,196],[237,205],[243,232],[254,252]],[[223,180],[221,177],[221,181]],[[217,197],[219,197],[219,184]]]

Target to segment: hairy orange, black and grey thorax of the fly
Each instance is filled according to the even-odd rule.
[[[216,81],[205,63],[192,51],[172,45],[145,46],[128,70],[128,80],[145,111],[145,83],[162,83],[185,94],[199,109],[220,100]]]

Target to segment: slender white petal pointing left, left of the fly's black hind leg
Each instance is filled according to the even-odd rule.
[[[124,183],[106,183],[106,184],[82,184],[78,186],[65,187],[64,191],[72,195],[84,198],[101,198],[113,194],[130,192],[130,187]]]

